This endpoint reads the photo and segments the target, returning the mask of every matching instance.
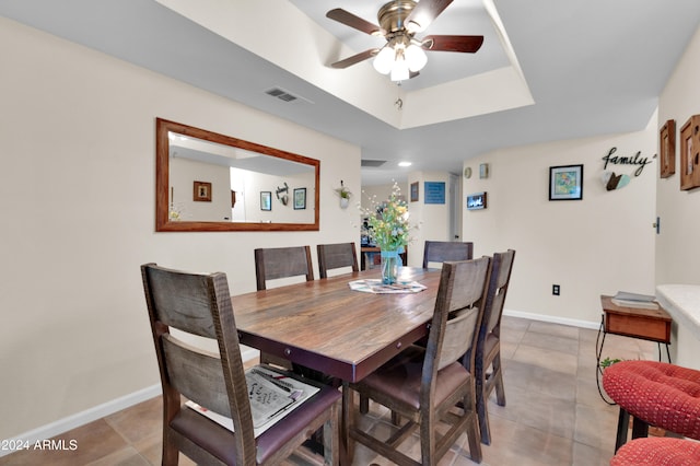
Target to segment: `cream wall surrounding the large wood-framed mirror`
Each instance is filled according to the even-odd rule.
[[[358,241],[358,147],[5,19],[0,56],[0,439],[159,384],[141,264],[240,294],[256,247]],[[320,160],[320,231],[155,233],[156,117]]]

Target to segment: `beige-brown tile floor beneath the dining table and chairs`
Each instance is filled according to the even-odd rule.
[[[597,331],[503,317],[502,358],[508,405],[489,404],[492,444],[482,445],[485,466],[607,465],[612,456],[617,407],[604,403],[596,384]],[[656,346],[608,335],[604,354],[656,359]],[[372,405],[363,419],[390,429],[386,411]],[[60,452],[23,451],[0,457],[3,465],[158,465],[161,456],[160,397],[59,435],[77,442]],[[418,452],[416,439],[407,448]],[[180,456],[180,465],[192,463]],[[290,464],[294,463],[293,461]],[[363,446],[354,465],[389,465]],[[439,466],[472,465],[463,435]]]

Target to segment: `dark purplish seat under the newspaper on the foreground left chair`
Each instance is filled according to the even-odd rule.
[[[257,439],[257,463],[265,464],[295,434],[306,429],[314,419],[323,416],[341,394],[332,387],[304,401],[304,409],[295,409],[262,432]],[[171,421],[171,428],[211,452],[225,464],[235,464],[235,448],[232,447],[234,432],[189,408],[183,408]]]

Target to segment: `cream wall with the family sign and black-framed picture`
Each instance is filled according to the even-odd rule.
[[[628,186],[607,191],[600,182],[602,158],[656,153],[655,116],[644,131],[568,140],[501,150],[470,159],[464,166],[464,197],[487,191],[488,208],[466,210],[463,237],[474,256],[516,251],[505,307],[594,326],[600,322],[602,293],[618,290],[654,293],[654,162]],[[480,163],[490,164],[479,179]],[[549,201],[549,167],[584,164],[583,200]],[[629,165],[608,166],[631,174]],[[552,295],[552,284],[561,295]]]

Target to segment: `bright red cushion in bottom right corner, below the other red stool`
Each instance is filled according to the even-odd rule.
[[[653,438],[625,444],[610,459],[610,466],[697,466],[700,443],[693,440]]]

